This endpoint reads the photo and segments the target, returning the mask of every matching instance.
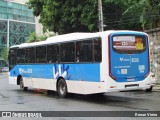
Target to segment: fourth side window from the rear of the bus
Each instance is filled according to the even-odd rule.
[[[48,45],[47,46],[47,62],[56,63],[59,62],[59,45]]]

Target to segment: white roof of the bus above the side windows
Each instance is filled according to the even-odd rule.
[[[69,34],[49,37],[45,41],[33,42],[33,43],[22,43],[20,45],[13,45],[10,48],[27,48],[27,47],[33,47],[33,46],[48,45],[48,44],[52,44],[52,43],[76,41],[76,40],[81,40],[81,39],[100,37],[104,33],[105,34],[110,34],[112,32],[116,32],[116,31],[115,30],[109,30],[109,31],[104,31],[104,32],[96,32],[96,33],[69,33]],[[121,32],[128,32],[128,31],[127,30],[121,30]]]

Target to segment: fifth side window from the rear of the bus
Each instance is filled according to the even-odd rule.
[[[46,46],[36,48],[36,63],[46,63]]]

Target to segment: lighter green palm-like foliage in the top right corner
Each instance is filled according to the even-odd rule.
[[[134,14],[143,30],[152,29],[159,26],[159,8],[159,0],[132,0],[128,1],[128,8],[123,14]]]

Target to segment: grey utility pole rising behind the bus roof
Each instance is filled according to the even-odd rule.
[[[99,31],[102,32],[103,29],[103,11],[102,11],[102,0],[98,0],[98,14],[99,14]]]

